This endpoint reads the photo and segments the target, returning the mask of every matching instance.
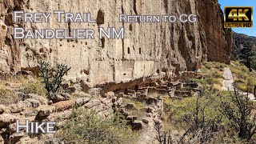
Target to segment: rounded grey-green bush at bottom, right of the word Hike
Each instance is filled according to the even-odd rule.
[[[66,143],[133,143],[137,134],[126,126],[119,115],[105,119],[80,109],[74,110],[60,138]]]

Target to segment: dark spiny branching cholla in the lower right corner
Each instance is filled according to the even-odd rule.
[[[253,103],[235,89],[230,96],[230,102],[221,102],[220,111],[228,118],[230,127],[238,132],[238,137],[250,141],[256,134],[256,120],[252,118]]]

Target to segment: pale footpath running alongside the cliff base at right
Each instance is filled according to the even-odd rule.
[[[222,89],[223,90],[234,90],[234,86],[233,86],[234,79],[233,79],[233,75],[232,75],[232,72],[229,67],[224,67],[223,77],[224,77],[224,81],[223,81]],[[246,92],[242,92],[242,94],[247,95]],[[250,98],[250,100],[256,101],[254,98],[254,94],[248,93],[248,97]]]

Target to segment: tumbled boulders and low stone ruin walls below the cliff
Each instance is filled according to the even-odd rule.
[[[30,77],[30,82],[34,81],[36,79]],[[22,83],[4,84],[7,90],[14,91],[21,99],[12,104],[0,102],[0,143],[17,144],[65,143],[58,132],[72,118],[75,109],[93,110],[100,118],[110,118],[120,112],[132,130],[140,130],[136,143],[158,143],[154,124],[162,123],[160,119],[164,98],[187,98],[201,91],[195,82],[154,81],[136,89],[127,87],[126,91],[109,91],[102,95],[86,94],[76,86],[72,94],[54,94],[54,99],[50,100],[38,94],[25,94],[26,88]],[[26,120],[56,122],[54,128],[57,134],[26,134],[25,129],[16,133],[17,119],[21,124]]]

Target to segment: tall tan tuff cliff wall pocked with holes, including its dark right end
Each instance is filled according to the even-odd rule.
[[[68,76],[89,86],[164,75],[172,77],[184,70],[198,70],[207,58],[229,62],[230,31],[222,28],[222,11],[216,0],[1,0],[0,70],[16,73],[33,69],[38,60],[71,66]],[[18,23],[13,10],[26,12],[90,12],[103,24]],[[119,14],[197,14],[199,22],[120,23]],[[125,39],[14,40],[14,26],[26,29],[94,28],[126,29]],[[98,43],[102,43],[102,47]]]

